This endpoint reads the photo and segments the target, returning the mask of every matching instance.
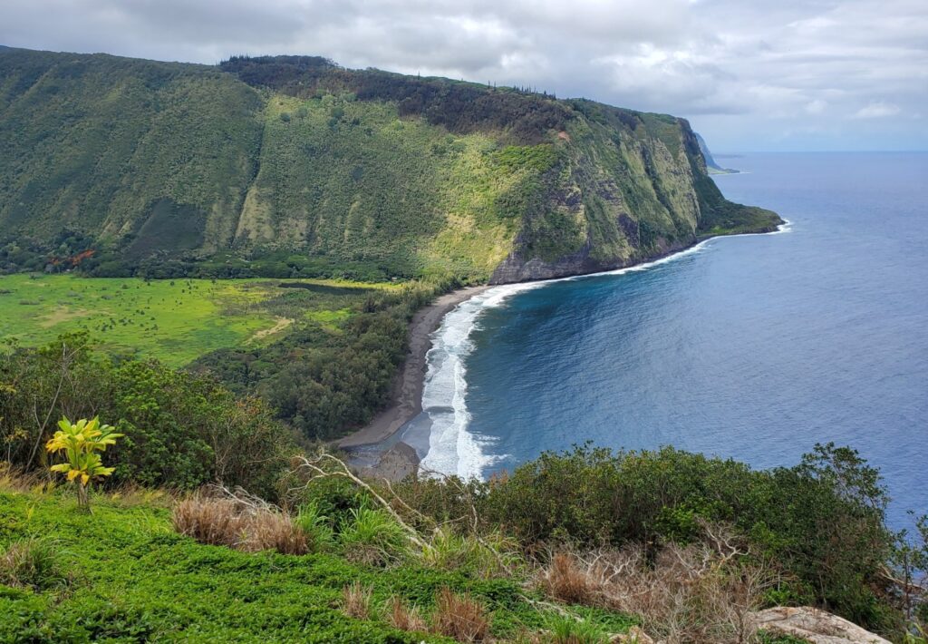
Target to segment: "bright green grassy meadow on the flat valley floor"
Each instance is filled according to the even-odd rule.
[[[44,344],[87,331],[102,348],[180,367],[218,348],[257,347],[303,320],[330,331],[389,285],[329,281],[0,276],[0,341]]]

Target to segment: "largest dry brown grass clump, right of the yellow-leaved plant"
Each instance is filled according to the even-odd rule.
[[[281,510],[249,499],[196,494],[174,506],[174,530],[201,544],[226,545],[245,552],[308,552],[306,535]]]

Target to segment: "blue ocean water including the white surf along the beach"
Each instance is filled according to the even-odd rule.
[[[491,289],[435,334],[423,464],[486,476],[592,440],[793,465],[818,442],[881,467],[891,521],[928,511],[928,154],[744,154],[716,177],[785,232]]]

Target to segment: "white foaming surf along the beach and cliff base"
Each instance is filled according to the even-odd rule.
[[[770,233],[788,232],[790,222]],[[738,236],[728,239],[735,239]],[[428,371],[422,391],[422,413],[431,421],[429,451],[421,460],[421,467],[445,475],[464,479],[481,478],[483,471],[504,456],[490,456],[483,446],[486,439],[470,432],[470,413],[467,408],[466,361],[473,351],[471,333],[479,328],[480,317],[487,309],[502,306],[518,293],[542,288],[548,283],[583,280],[602,275],[624,275],[675,261],[681,257],[702,252],[705,245],[718,237],[697,243],[686,250],[652,262],[625,269],[607,270],[589,275],[573,275],[545,282],[503,284],[471,297],[445,315],[441,326],[432,334],[432,348],[426,357]]]

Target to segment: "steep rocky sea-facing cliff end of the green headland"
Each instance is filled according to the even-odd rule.
[[[703,235],[766,232],[776,214],[725,200],[689,123],[574,101],[561,165],[541,208],[526,213],[492,283],[618,269]]]

